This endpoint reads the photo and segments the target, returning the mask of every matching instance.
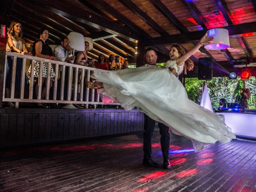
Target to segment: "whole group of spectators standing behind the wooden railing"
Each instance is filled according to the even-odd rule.
[[[63,37],[61,39],[60,45],[56,46],[54,50],[50,48],[47,39],[49,37],[49,31],[47,28],[41,28],[39,31],[39,38],[33,43],[32,52],[28,52],[26,48],[25,40],[22,38],[22,25],[20,22],[12,21],[10,27],[8,28],[8,40],[6,44],[6,51],[16,52],[19,54],[37,56],[41,58],[46,58],[50,60],[58,60],[61,62],[70,62],[74,64],[81,64],[84,66],[94,67],[103,70],[121,70],[128,68],[128,61],[124,61],[124,64],[120,61],[119,56],[111,54],[109,56],[109,62],[106,61],[106,58],[103,54],[98,56],[98,62],[94,59],[89,59],[87,52],[89,50],[89,42],[85,42],[84,51],[78,52],[76,56],[72,54],[70,47],[70,41],[68,37]],[[35,94],[38,96],[38,77],[40,74],[40,62],[34,62],[34,83],[35,84]],[[6,67],[6,88],[5,88],[5,97],[10,98],[10,87],[12,82],[12,63],[13,58],[8,56],[7,58],[7,67]],[[62,66],[60,66],[59,78],[65,78],[65,85],[68,82],[68,70],[66,70],[65,76],[62,77]],[[22,71],[22,59],[17,58],[16,60],[16,75],[15,75],[15,97],[19,98],[20,92],[20,81],[21,81],[21,71]],[[53,78],[58,75],[55,74],[54,69],[50,69],[50,87],[52,87]],[[31,66],[28,70],[27,77],[31,77]],[[46,77],[47,77],[47,63],[43,64],[42,71],[42,92],[41,99],[44,99],[46,96]],[[64,90],[64,100],[66,99],[67,90]],[[5,106],[14,107],[14,104],[11,102],[6,102]],[[37,103],[38,107],[44,107],[44,104]]]

